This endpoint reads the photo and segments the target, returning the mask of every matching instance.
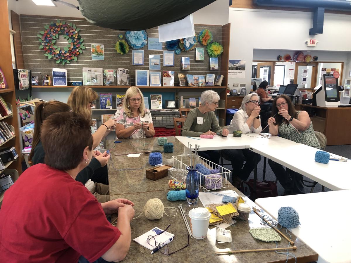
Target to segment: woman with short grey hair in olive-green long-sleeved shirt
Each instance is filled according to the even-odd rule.
[[[218,125],[217,116],[214,111],[218,108],[219,95],[213,90],[205,90],[201,93],[201,106],[190,110],[181,131],[182,136],[197,137],[201,134],[220,135],[226,137],[229,130],[222,129]],[[199,156],[219,163],[219,150],[199,151]]]

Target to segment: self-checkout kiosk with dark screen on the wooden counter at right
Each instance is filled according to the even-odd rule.
[[[313,93],[312,105],[319,107],[338,107],[340,105],[338,79],[333,74],[323,74],[322,86],[319,85],[319,88]]]

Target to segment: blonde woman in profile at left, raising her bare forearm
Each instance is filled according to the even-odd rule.
[[[93,102],[99,97],[92,88],[78,86],[75,87],[71,94],[69,94],[67,104],[72,108],[73,112],[80,113],[87,120],[91,120],[92,110],[91,107]],[[95,131],[91,123],[91,133],[93,135],[93,149],[97,148],[99,143],[110,133],[115,127],[115,121],[113,119],[107,120],[100,125]],[[99,156],[100,151],[95,149],[93,157]],[[108,184],[108,168],[103,166],[95,170],[92,181],[96,183]]]

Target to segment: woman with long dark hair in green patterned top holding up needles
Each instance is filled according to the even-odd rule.
[[[279,95],[273,101],[272,116],[274,115],[276,117],[268,119],[270,134],[278,135],[279,133],[285,139],[320,149],[320,144],[313,131],[310,116],[304,110],[295,110],[294,105],[287,95]],[[290,175],[295,175],[296,178],[293,189],[290,189],[291,178],[286,174],[283,166],[272,160],[268,160],[268,163],[286,193],[291,190],[293,193],[304,193],[302,175],[289,170]]]

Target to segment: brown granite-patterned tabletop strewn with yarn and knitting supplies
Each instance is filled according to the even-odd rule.
[[[187,153],[186,147],[176,140],[174,137],[167,137],[168,142],[174,144],[174,153],[163,153],[163,163],[173,165],[173,155],[182,155]],[[163,150],[162,146],[157,145],[157,138],[139,139],[141,143],[147,142],[143,146],[137,140],[121,140],[122,143],[115,144],[115,148],[112,150],[112,163],[109,169],[109,181],[110,181],[110,195],[111,200],[116,198],[126,198],[134,202],[135,217],[139,216],[144,208],[145,203],[151,198],[159,198],[165,207],[177,208],[179,204],[183,204],[183,209],[187,215],[190,207],[187,206],[186,201],[171,202],[166,198],[168,189],[167,177],[164,177],[157,181],[152,181],[146,178],[145,169],[151,168],[148,164],[148,156],[144,154],[148,150]],[[107,142],[108,149],[111,149],[114,145],[113,141]],[[136,147],[137,148],[136,148]],[[129,153],[142,153],[140,157],[127,157]],[[116,169],[135,169],[143,168],[139,170],[124,170],[117,171]],[[236,188],[230,185],[229,188],[223,190],[234,190],[239,195],[243,194]],[[245,197],[246,202],[249,205],[255,205],[251,200]],[[197,206],[202,207],[200,200],[198,200]],[[257,207],[257,205],[256,205]],[[168,215],[175,214],[174,209],[165,208]],[[116,215],[112,216],[114,220]],[[189,220],[187,216],[187,220]],[[159,227],[165,229],[169,224],[170,228],[167,230],[173,233],[174,240],[168,245],[170,252],[178,250],[184,247],[187,243],[187,230],[185,228],[184,221],[178,210],[178,214],[173,217],[164,215],[160,220],[148,220],[145,215],[141,215],[131,221],[132,229],[132,240],[138,237],[148,230]],[[286,255],[277,254],[274,251],[267,252],[250,252],[232,255],[215,255],[213,252],[216,251],[227,251],[227,250],[243,250],[243,249],[262,249],[262,248],[275,248],[275,243],[265,243],[254,239],[249,233],[250,228],[261,227],[260,218],[252,213],[249,216],[249,220],[237,221],[236,226],[230,226],[229,230],[232,231],[232,242],[231,243],[219,243],[216,241],[216,227],[210,226],[208,229],[207,237],[203,240],[197,240],[190,238],[188,247],[185,249],[166,256],[161,252],[157,252],[150,255],[150,250],[144,248],[138,243],[132,241],[131,247],[128,254],[123,262],[285,262]],[[283,229],[285,231],[285,229]],[[305,243],[300,241],[296,236],[292,235],[292,240],[297,246],[297,250],[292,251],[297,257],[297,262],[311,262],[318,259],[318,254],[308,247]],[[287,247],[288,242],[282,238],[282,241],[278,243],[278,247]],[[288,262],[294,262],[294,258],[289,258]]]

